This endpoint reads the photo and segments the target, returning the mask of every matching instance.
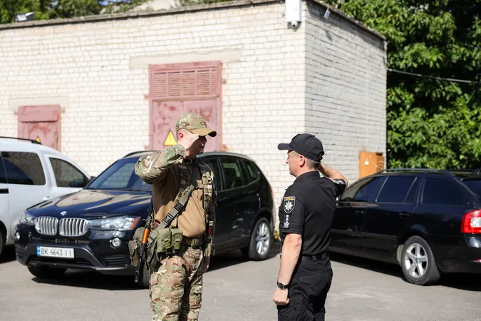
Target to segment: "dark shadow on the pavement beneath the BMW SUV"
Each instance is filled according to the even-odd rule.
[[[270,260],[278,254],[279,242],[275,241],[266,260]],[[247,262],[247,260],[242,258],[240,250],[216,255],[212,258],[207,273],[244,262]],[[133,275],[103,275],[95,271],[67,270],[64,275],[56,279],[40,279],[32,275],[32,280],[43,284],[87,287],[100,290],[145,290],[135,283]]]

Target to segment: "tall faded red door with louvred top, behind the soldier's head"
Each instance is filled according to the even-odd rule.
[[[207,138],[205,151],[222,146],[221,64],[219,61],[150,66],[150,148],[175,145],[175,123],[182,113],[195,112],[217,131]]]

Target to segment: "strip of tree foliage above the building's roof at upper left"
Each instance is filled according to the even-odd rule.
[[[0,0],[0,24],[14,22],[16,14],[35,11],[35,20],[73,18],[125,12],[147,0]]]

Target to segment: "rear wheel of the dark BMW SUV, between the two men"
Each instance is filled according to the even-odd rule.
[[[249,245],[243,248],[242,256],[248,260],[264,260],[272,245],[272,231],[267,218],[260,218],[252,229]]]

